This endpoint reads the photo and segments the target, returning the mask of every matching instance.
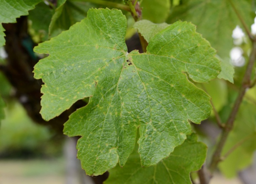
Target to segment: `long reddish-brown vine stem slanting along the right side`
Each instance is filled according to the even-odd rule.
[[[234,120],[237,115],[240,104],[242,103],[242,99],[245,95],[245,91],[246,91],[246,89],[251,87],[251,73],[253,70],[253,64],[254,64],[255,59],[256,59],[256,41],[254,40],[253,41],[253,49],[251,51],[248,65],[247,65],[247,68],[245,71],[245,75],[242,80],[242,86],[240,88],[237,99],[236,99],[234,106],[231,110],[231,113],[229,115],[229,119],[227,120],[226,125],[223,128],[223,131],[221,134],[221,139],[219,140],[216,150],[215,150],[214,154],[212,155],[212,160],[211,160],[210,167],[209,167],[211,173],[213,173],[215,171],[218,163],[221,161],[222,149],[223,149],[224,144],[228,138],[229,132],[233,128]]]

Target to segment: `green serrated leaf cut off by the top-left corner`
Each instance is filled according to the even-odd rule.
[[[0,24],[14,23],[16,18],[27,15],[42,0],[0,0]],[[0,25],[0,46],[5,45],[3,26]]]

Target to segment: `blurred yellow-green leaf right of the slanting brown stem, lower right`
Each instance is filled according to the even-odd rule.
[[[230,149],[234,149],[234,151],[219,164],[221,172],[226,177],[236,176],[238,171],[252,163],[253,153],[256,150],[255,104],[243,102],[240,106],[234,128],[229,133],[222,155]]]

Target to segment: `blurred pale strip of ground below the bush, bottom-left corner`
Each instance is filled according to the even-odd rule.
[[[64,159],[0,160],[0,184],[64,184],[64,166]]]

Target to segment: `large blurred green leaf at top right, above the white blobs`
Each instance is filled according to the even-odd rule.
[[[191,21],[196,25],[197,31],[210,41],[219,56],[228,57],[233,46],[232,31],[237,25],[242,27],[231,3],[245,24],[251,27],[255,13],[250,2],[251,0],[182,0],[180,5],[174,7],[167,23],[179,19]]]

